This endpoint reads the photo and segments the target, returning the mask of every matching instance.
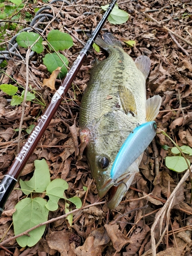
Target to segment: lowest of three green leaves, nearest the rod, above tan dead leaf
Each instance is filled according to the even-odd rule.
[[[58,77],[63,78],[67,74],[68,70],[67,70],[66,66],[68,66],[69,61],[62,54],[58,53],[58,55],[60,56],[60,58],[62,60],[57,56],[57,54],[55,52],[51,53],[51,54],[50,53],[46,54],[45,58],[42,58],[42,60],[44,61],[44,64],[46,65],[46,67],[50,73],[52,73],[54,70],[56,70],[56,68],[62,67]]]

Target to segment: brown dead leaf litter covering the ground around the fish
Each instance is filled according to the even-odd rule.
[[[87,41],[84,33],[75,30],[95,28],[102,16],[100,6],[105,4],[104,1],[95,4],[92,0],[73,3],[62,9],[64,16],[59,14],[60,22],[52,22],[46,30],[46,34],[52,29],[72,31],[75,36],[74,46],[70,50],[60,51],[69,59],[70,66],[82,48],[81,42]],[[39,2],[30,5],[31,9],[28,8],[32,15],[37,5],[42,6]],[[142,54],[150,57],[152,67],[146,82],[146,92],[147,97],[155,94],[162,97],[157,117],[158,131],[165,131],[179,146],[192,147],[190,1],[128,0],[118,1],[118,5],[130,14],[129,20],[122,25],[107,22],[103,28],[121,40],[124,50],[134,59]],[[55,4],[52,10],[58,13],[60,6]],[[85,12],[93,13],[86,15],[83,14]],[[46,25],[40,26],[44,28]],[[175,34],[170,33],[170,30]],[[136,47],[129,48],[124,43],[127,40],[135,40]],[[19,48],[19,51],[24,55],[27,52],[23,48]],[[74,211],[73,225],[70,227],[66,219],[62,218],[65,201],[61,199],[59,208],[49,214],[49,220],[57,219],[47,225],[40,241],[33,247],[20,248],[12,239],[14,233],[10,225],[14,206],[25,196],[22,191],[13,190],[6,203],[5,214],[0,219],[0,237],[3,238],[0,255],[191,255],[191,182],[188,172],[177,174],[165,166],[164,158],[172,156],[168,147],[174,144],[163,134],[157,134],[148,148],[150,156],[157,158],[143,156],[139,174],[115,210],[106,207],[105,198],[98,198],[78,137],[80,101],[95,56],[105,58],[104,52],[92,51],[83,63],[73,87],[68,91],[21,176],[23,180],[29,180],[33,174],[34,160],[46,159],[51,180],[65,179],[69,184],[66,196],[78,196],[84,208]],[[29,83],[48,104],[54,90],[42,85],[45,84],[44,79],[48,79],[53,86],[54,77],[58,73],[50,78],[47,68],[42,65],[43,57],[44,53],[30,59]],[[23,87],[26,86],[26,65],[17,61],[17,58],[8,62],[5,72]],[[16,85],[9,76],[3,75],[1,83]],[[56,80],[56,89],[58,86],[59,80]],[[22,105],[10,106],[3,91],[0,96],[0,175],[3,178],[17,154],[19,138],[15,129],[18,129],[22,118]],[[27,101],[19,146],[28,136],[26,129],[43,111],[44,106]],[[188,159],[192,162],[190,156]],[[87,191],[83,187],[87,187]],[[70,210],[75,209],[73,204],[70,207]]]

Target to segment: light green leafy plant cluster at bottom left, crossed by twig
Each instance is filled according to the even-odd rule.
[[[78,197],[66,198],[63,196],[64,191],[68,189],[68,183],[62,179],[50,180],[50,172],[45,159],[35,160],[35,171],[29,181],[20,180],[20,187],[23,193],[31,197],[20,200],[16,205],[16,211],[13,214],[13,226],[15,235],[22,233],[42,222],[47,221],[49,211],[55,211],[58,208],[59,199],[66,200],[65,212],[69,212],[67,201],[75,204],[80,208],[82,203]],[[46,193],[49,200],[42,197],[33,197],[32,193]],[[72,225],[73,215],[70,214],[68,222]],[[33,246],[41,238],[46,225],[40,226],[29,232],[29,236],[17,238],[17,243],[22,246]]]

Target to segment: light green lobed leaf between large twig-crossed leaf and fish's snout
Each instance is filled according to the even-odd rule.
[[[47,186],[46,195],[49,196],[49,201],[46,207],[49,210],[57,210],[57,203],[60,198],[63,198],[63,193],[66,189],[68,189],[68,183],[62,179],[55,179]]]

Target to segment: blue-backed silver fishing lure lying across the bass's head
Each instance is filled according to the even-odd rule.
[[[111,179],[117,185],[117,179],[126,174],[132,163],[144,152],[156,135],[155,121],[139,124],[126,138],[118,152],[111,169]],[[129,172],[127,172],[129,175]]]

